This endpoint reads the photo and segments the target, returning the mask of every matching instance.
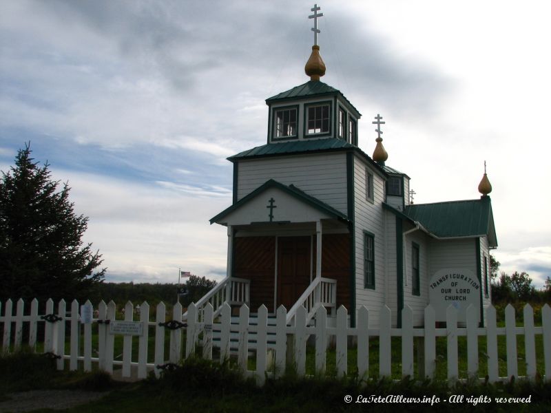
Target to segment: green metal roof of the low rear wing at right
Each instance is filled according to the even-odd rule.
[[[437,237],[488,235],[490,246],[497,246],[490,197],[479,200],[413,204],[406,206],[404,213]]]

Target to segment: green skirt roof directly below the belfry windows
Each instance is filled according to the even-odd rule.
[[[388,174],[381,165],[377,164],[359,147],[352,145],[346,140],[337,138],[322,138],[322,139],[308,139],[308,140],[292,140],[289,142],[267,143],[247,151],[242,151],[236,155],[230,156],[227,160],[236,162],[242,159],[251,158],[263,158],[267,156],[281,156],[281,155],[296,155],[300,153],[313,153],[313,152],[331,152],[331,151],[356,151],[363,156],[368,162],[371,163],[381,172],[382,176],[388,177]]]

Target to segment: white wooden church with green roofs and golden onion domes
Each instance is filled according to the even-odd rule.
[[[317,22],[319,8],[313,9]],[[306,63],[310,80],[266,100],[264,145],[228,158],[233,204],[211,219],[227,226],[227,278],[198,302],[304,305],[313,317],[323,305],[366,306],[377,324],[380,308],[423,310],[490,304],[490,248],[497,247],[486,176],[481,198],[433,204],[409,202],[409,176],[386,165],[382,117],[368,155],[357,143],[360,112],[339,90],[320,81],[326,67],[315,44]]]

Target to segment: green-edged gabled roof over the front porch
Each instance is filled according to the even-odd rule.
[[[214,224],[215,222],[218,224],[226,225],[227,222],[224,222],[224,218],[227,218],[227,216],[230,213],[233,213],[235,211],[238,211],[245,207],[245,205],[250,204],[253,200],[255,200],[258,195],[261,193],[264,193],[265,191],[269,191],[270,189],[276,189],[279,191],[282,191],[286,195],[290,195],[293,200],[296,200],[307,207],[311,207],[320,213],[324,215],[324,218],[333,218],[335,220],[341,220],[344,222],[349,222],[349,218],[346,217],[346,215],[337,209],[331,207],[330,205],[326,204],[325,202],[322,202],[318,200],[318,198],[315,198],[311,195],[308,195],[298,187],[295,187],[295,185],[285,185],[281,182],[278,182],[276,180],[268,180],[267,182],[264,182],[260,187],[249,193],[249,195],[245,196],[244,198],[240,199],[235,204],[231,205],[231,207],[228,207],[224,211],[220,212],[215,217],[211,218],[209,222],[211,224]],[[267,207],[268,208],[268,207]],[[275,207],[277,208],[277,207]],[[266,211],[264,209],[264,211]],[[269,221],[266,221],[269,222]],[[277,221],[276,221],[277,222]]]

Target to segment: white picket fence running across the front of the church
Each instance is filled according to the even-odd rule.
[[[90,301],[86,305],[91,305]],[[328,343],[333,341],[335,348],[335,365],[337,376],[347,374],[349,363],[347,360],[351,343],[357,350],[357,372],[360,377],[366,377],[369,369],[369,341],[375,337],[379,339],[379,375],[391,377],[391,337],[401,337],[402,345],[402,376],[414,376],[414,341],[416,337],[421,340],[422,352],[417,354],[417,368],[422,369],[422,376],[433,377],[437,363],[436,341],[437,337],[446,337],[447,343],[447,377],[449,381],[456,381],[459,377],[458,337],[465,336],[467,342],[467,374],[468,377],[488,376],[489,381],[508,379],[512,376],[519,377],[519,359],[517,357],[517,337],[524,337],[526,358],[526,377],[534,379],[536,370],[536,337],[543,336],[543,361],[544,379],[551,379],[551,308],[545,304],[542,308],[542,326],[534,326],[532,307],[527,305],[523,309],[523,326],[517,326],[514,308],[508,305],[505,311],[506,326],[497,327],[495,308],[490,306],[486,313],[486,326],[481,328],[477,321],[477,308],[468,308],[465,327],[457,324],[457,310],[450,306],[446,313],[446,328],[436,328],[435,311],[432,306],[425,309],[424,328],[413,328],[413,312],[406,306],[402,312],[402,328],[391,327],[391,310],[384,306],[380,311],[380,322],[377,328],[370,325],[369,311],[362,307],[357,312],[357,326],[349,327],[349,317],[346,308],[337,310],[336,324],[333,327],[327,323],[327,313],[324,307],[320,307],[315,313],[315,325],[306,324],[306,309],[298,308],[295,313],[294,324],[287,324],[287,310],[280,307],[275,315],[275,324],[268,323],[268,310],[265,306],[258,309],[258,314],[251,317],[249,308],[243,305],[240,308],[238,322],[231,322],[231,308],[228,304],[222,306],[220,316],[214,318],[214,309],[210,304],[205,306],[202,321],[198,321],[198,310],[194,304],[187,311],[187,325],[182,323],[182,307],[176,304],[173,308],[172,321],[165,322],[165,304],[162,302],[156,307],[156,319],[151,321],[149,317],[149,305],[141,304],[138,319],[143,323],[143,335],[133,337],[123,336],[122,360],[114,357],[115,335],[110,333],[109,324],[116,320],[116,305],[113,301],[109,304],[101,301],[97,308],[97,317],[92,324],[82,324],[79,320],[80,306],[73,301],[70,307],[70,315],[67,313],[65,301],[60,301],[57,311],[54,313],[54,303],[50,299],[46,304],[46,315],[38,315],[38,302],[33,300],[30,305],[30,313],[25,315],[23,300],[17,301],[17,310],[13,315],[12,301],[6,301],[3,307],[3,315],[0,303],[0,326],[3,325],[3,351],[21,347],[23,337],[23,324],[28,323],[28,344],[31,348],[37,347],[37,326],[44,323],[44,352],[56,357],[57,366],[61,370],[65,368],[65,360],[68,360],[70,370],[79,368],[79,362],[85,371],[92,370],[92,363],[97,363],[98,368],[112,373],[114,366],[122,366],[122,376],[130,377],[132,367],[137,368],[137,377],[145,378],[147,372],[154,370],[155,374],[167,366],[179,363],[183,358],[195,354],[196,348],[202,347],[200,357],[213,358],[213,348],[219,347],[217,358],[220,362],[231,357],[231,337],[238,337],[237,366],[245,374],[256,376],[259,383],[264,381],[266,375],[279,377],[284,374],[289,366],[289,360],[293,361],[293,368],[299,375],[306,374],[306,341],[313,336],[315,343],[315,370],[324,373],[326,370]],[[68,315],[68,316],[67,316]],[[50,321],[48,321],[48,319]],[[56,321],[56,319],[60,319]],[[134,306],[127,303],[125,306],[125,321],[134,320]],[[107,322],[106,322],[107,321]],[[14,335],[12,328],[14,326]],[[70,326],[69,337],[65,337],[66,327]],[[92,357],[92,328],[97,329],[97,357]],[[154,356],[148,358],[149,328],[154,328]],[[169,331],[169,351],[165,354],[165,333]],[[185,335],[184,335],[185,331]],[[486,337],[486,352],[488,358],[488,371],[479,371],[479,337]],[[499,377],[499,357],[497,341],[499,336],[506,340],[506,366],[507,376]],[[183,345],[185,337],[185,346]],[[269,346],[269,337],[275,345]],[[349,337],[352,337],[350,340]],[[65,341],[68,339],[68,351]],[[215,341],[216,339],[216,341]],[[132,361],[132,341],[138,340],[138,357]],[[252,345],[254,343],[254,345]],[[256,351],[251,352],[251,348]],[[95,354],[94,354],[95,355]],[[247,364],[251,357],[256,357],[256,370],[248,370]],[[541,358],[541,352],[539,352]],[[396,362],[396,360],[395,360]],[[503,362],[503,361],[501,361]],[[417,372],[418,373],[418,372]]]

